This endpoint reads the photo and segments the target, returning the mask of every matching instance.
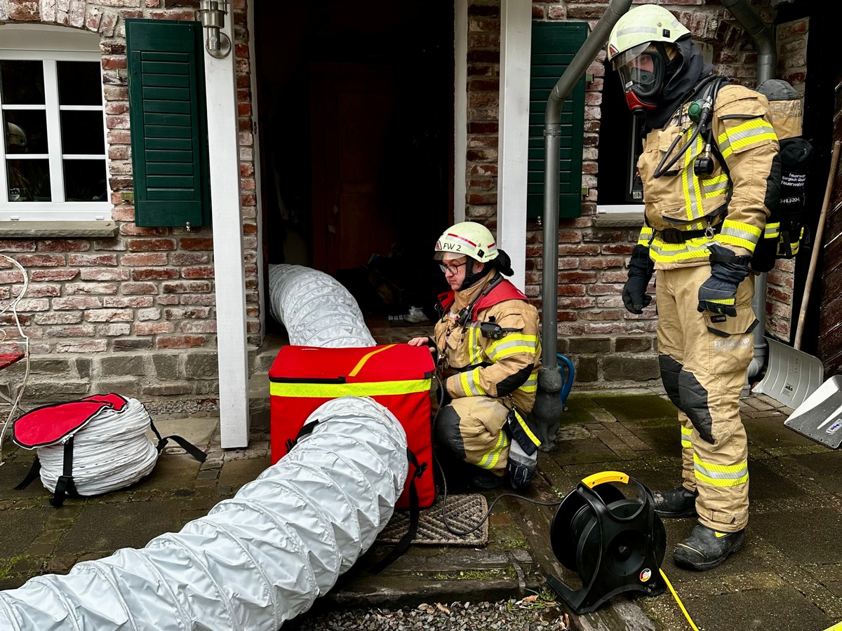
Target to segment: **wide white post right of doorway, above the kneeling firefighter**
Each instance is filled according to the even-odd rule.
[[[531,0],[502,0],[497,241],[512,259],[514,276],[511,282],[521,291],[525,289],[526,275],[531,51]]]

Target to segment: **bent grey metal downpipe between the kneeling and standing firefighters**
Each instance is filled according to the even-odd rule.
[[[573,61],[562,74],[546,100],[544,114],[544,257],[541,280],[541,369],[532,418],[541,438],[541,449],[552,451],[562,416],[562,374],[557,366],[558,352],[558,155],[561,144],[562,105],[588,66],[600,54],[614,24],[632,0],[611,0],[600,21],[584,41]]]

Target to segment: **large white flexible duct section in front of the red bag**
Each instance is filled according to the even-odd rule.
[[[312,434],[179,533],[0,591],[0,629],[277,631],[369,549],[408,474],[407,437],[374,400],[312,413]]]

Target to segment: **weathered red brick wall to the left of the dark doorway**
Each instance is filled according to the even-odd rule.
[[[0,252],[16,257],[30,276],[29,291],[19,305],[33,355],[25,396],[29,406],[114,391],[141,398],[153,411],[216,409],[212,231],[134,224],[125,56],[125,19],[194,20],[198,7],[199,0],[0,0],[3,22],[57,24],[99,34],[112,217],[119,225],[118,236],[109,239],[0,241]],[[233,19],[237,57],[248,336],[257,345],[257,204],[246,0],[233,1],[228,19]],[[10,272],[0,272],[6,274],[0,282],[8,283]],[[13,346],[10,338],[5,348]],[[15,383],[22,370],[16,365],[0,378]]]

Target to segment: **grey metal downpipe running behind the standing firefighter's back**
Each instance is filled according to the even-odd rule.
[[[775,78],[777,49],[773,29],[760,19],[748,0],[722,0],[728,11],[737,19],[746,33],[757,46],[757,85]],[[754,298],[751,301],[754,317],[759,322],[754,327],[754,358],[749,363],[746,374],[746,389],[751,387],[751,379],[760,374],[766,364],[768,348],[764,339],[766,333],[766,274],[754,278]]]

